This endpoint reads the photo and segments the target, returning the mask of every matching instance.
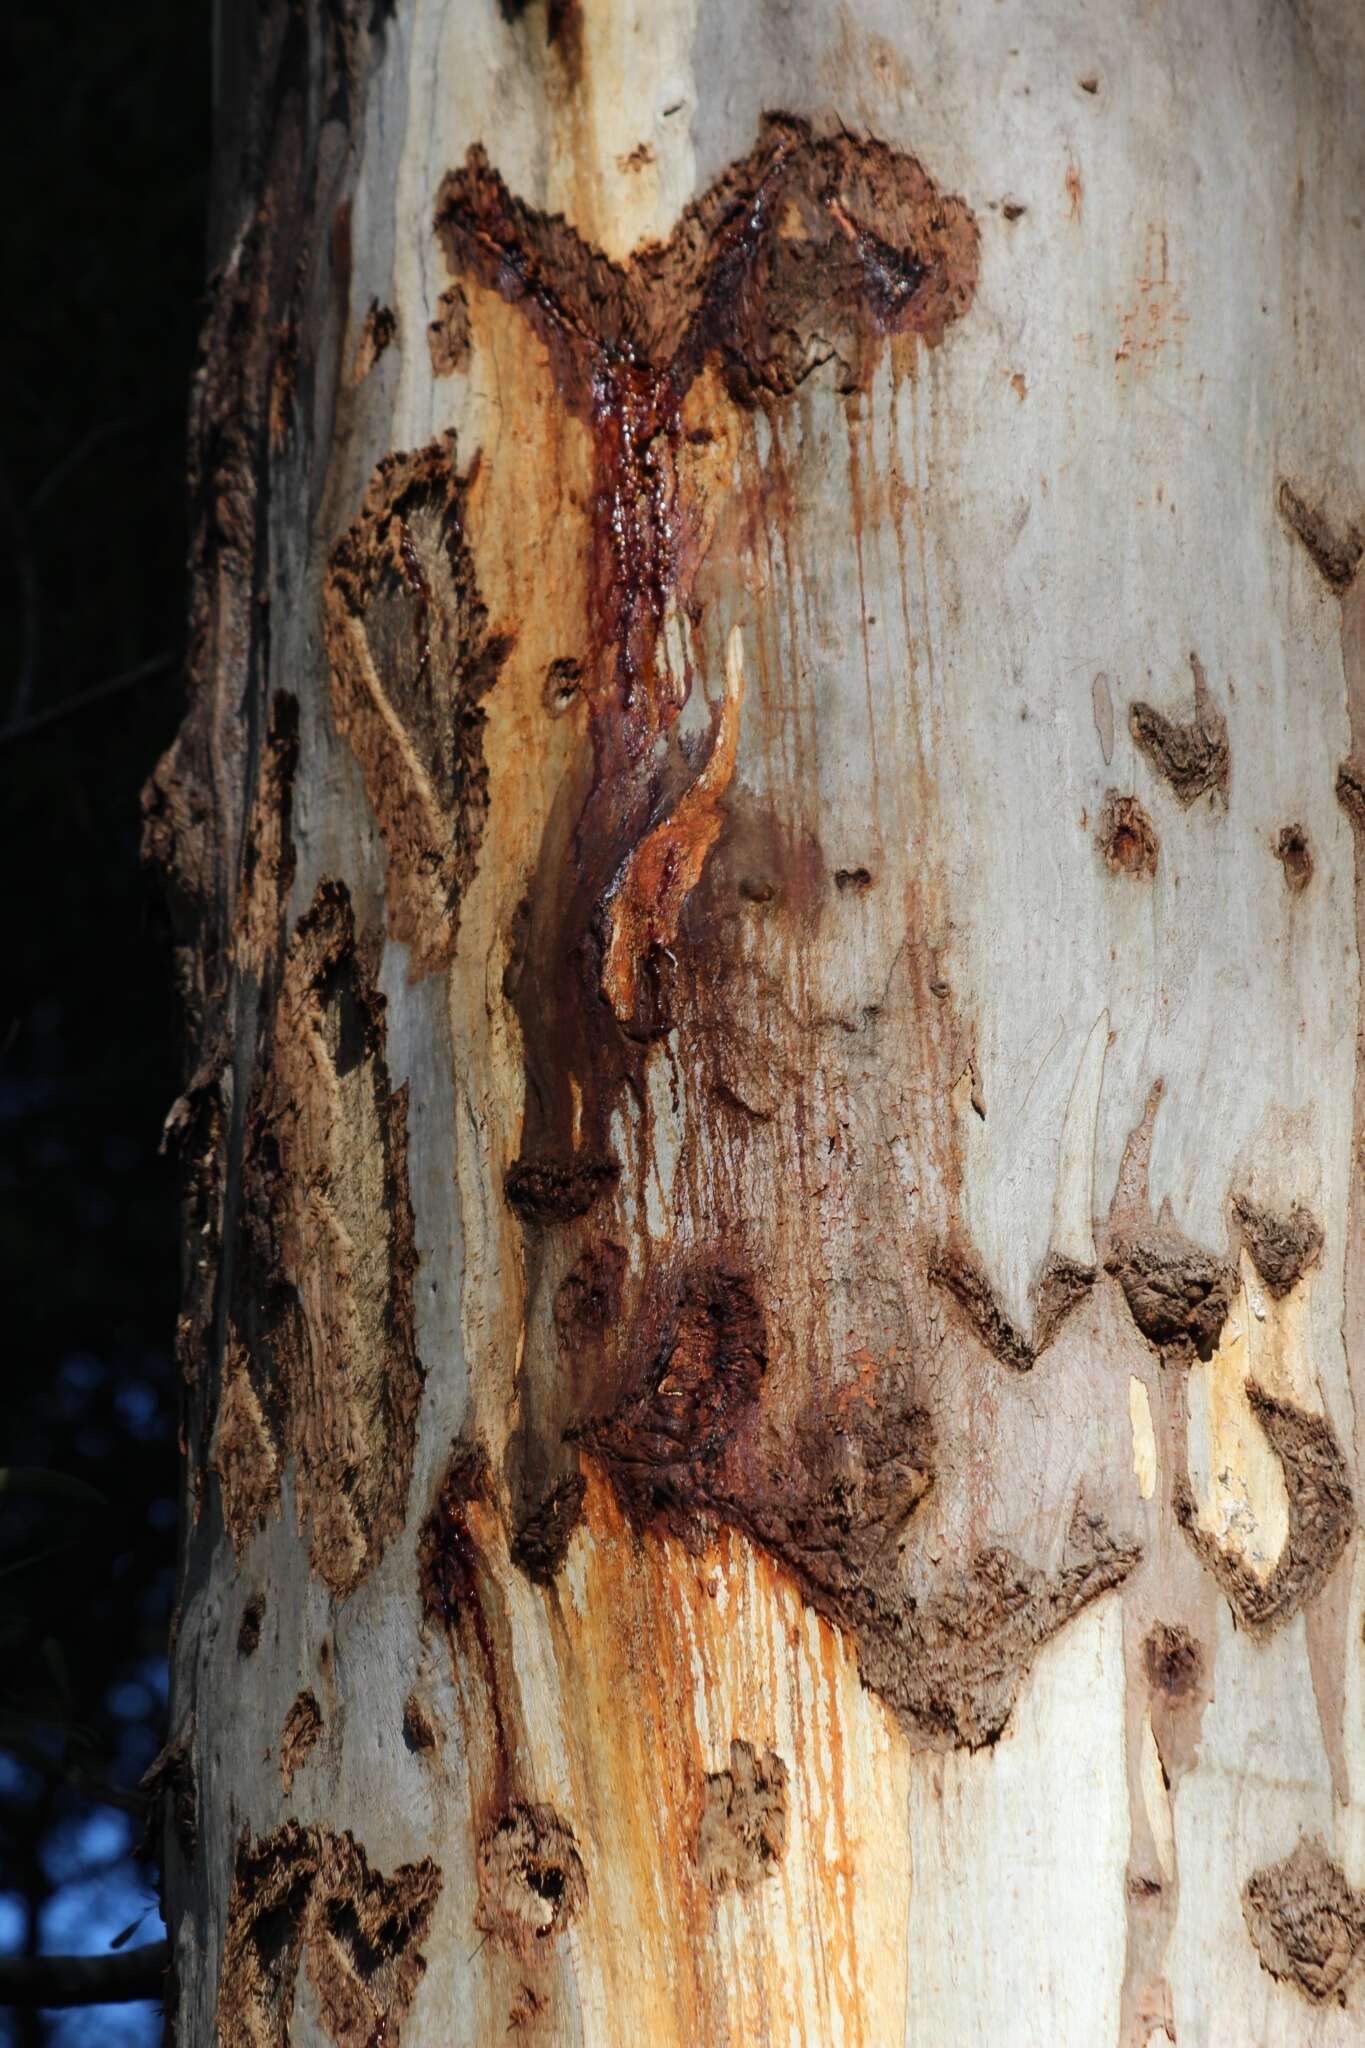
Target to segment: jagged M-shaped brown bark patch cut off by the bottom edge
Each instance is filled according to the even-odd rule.
[[[241,1839],[227,1901],[219,2048],[289,2048],[299,1964],[338,2048],[397,2048],[440,1896],[430,1858],[391,1878],[348,1833],[287,1823]]]

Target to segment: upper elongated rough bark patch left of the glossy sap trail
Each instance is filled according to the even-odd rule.
[[[389,930],[413,977],[448,963],[487,815],[481,698],[508,643],[465,545],[454,438],[387,455],[323,588],[332,709],[389,852]]]

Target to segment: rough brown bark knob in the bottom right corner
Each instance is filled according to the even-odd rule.
[[[1365,1956],[1365,1892],[1357,1892],[1320,1835],[1302,1835],[1279,1864],[1242,1888],[1242,1917],[1261,1968],[1312,2005],[1342,1997]]]

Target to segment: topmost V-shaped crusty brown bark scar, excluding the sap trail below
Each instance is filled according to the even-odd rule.
[[[862,381],[884,334],[939,342],[976,289],[962,199],[911,156],[786,115],[628,264],[514,199],[481,150],[446,178],[436,227],[452,270],[522,299],[559,342],[589,338],[688,383],[714,348],[745,399],[796,389],[831,354]]]

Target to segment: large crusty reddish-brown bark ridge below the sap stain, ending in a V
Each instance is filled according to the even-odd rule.
[[[835,1395],[780,1442],[759,1407],[767,1354],[745,1276],[686,1276],[673,1311],[649,1311],[643,1331],[636,1384],[571,1434],[639,1524],[702,1542],[729,1522],[784,1563],[919,1741],[993,1743],[1038,1647],[1138,1563],[1134,1542],[1076,1513],[1058,1571],[980,1550],[917,1599],[900,1542],[931,1485],[933,1442],[907,1386],[890,1376],[876,1401]]]

